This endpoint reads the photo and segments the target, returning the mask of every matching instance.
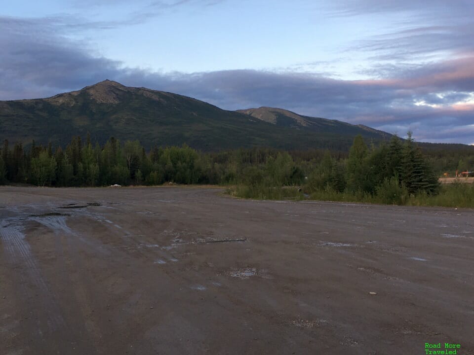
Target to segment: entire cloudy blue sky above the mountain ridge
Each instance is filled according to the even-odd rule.
[[[474,144],[473,0],[15,0],[0,100],[110,79]]]

